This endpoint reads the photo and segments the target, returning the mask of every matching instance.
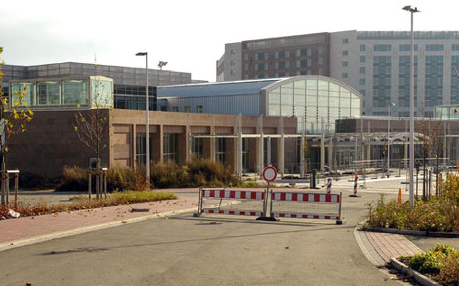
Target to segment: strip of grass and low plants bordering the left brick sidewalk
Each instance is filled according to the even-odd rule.
[[[115,206],[122,204],[133,204],[160,200],[177,199],[176,195],[170,192],[158,191],[124,191],[113,192],[109,194],[107,199],[91,199],[89,200],[85,195],[73,197],[71,203],[60,204],[47,204],[46,202],[39,202],[36,204],[19,202],[16,206],[10,204],[9,206],[0,207],[0,217],[9,218],[8,211],[13,209],[19,212],[22,217],[44,215],[45,213],[55,213],[63,211],[73,211],[81,209],[90,209],[98,207]]]

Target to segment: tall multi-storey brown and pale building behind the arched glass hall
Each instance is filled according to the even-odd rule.
[[[415,116],[459,103],[459,32],[414,33]],[[409,115],[410,32],[343,31],[225,45],[217,81],[325,75],[364,96],[365,115]]]

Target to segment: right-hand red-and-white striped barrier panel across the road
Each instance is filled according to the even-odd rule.
[[[271,217],[341,220],[342,193],[271,193]]]

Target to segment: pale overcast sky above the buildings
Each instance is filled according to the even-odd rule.
[[[4,1],[0,58],[6,64],[55,62],[149,67],[215,81],[224,44],[345,30],[459,30],[459,1]]]

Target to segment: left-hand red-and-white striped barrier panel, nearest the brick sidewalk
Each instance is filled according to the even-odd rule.
[[[198,213],[263,217],[266,213],[264,192],[199,188]]]

